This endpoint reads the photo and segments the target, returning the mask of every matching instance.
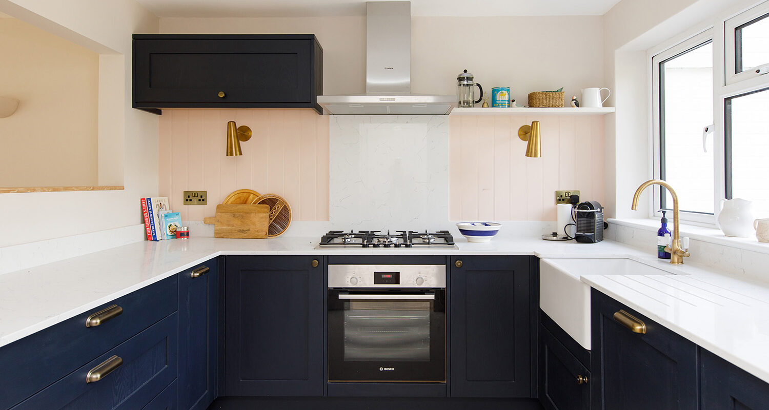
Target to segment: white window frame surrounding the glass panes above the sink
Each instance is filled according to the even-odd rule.
[[[769,75],[756,74],[754,71],[734,73],[736,66],[736,48],[734,43],[734,28],[753,22],[761,16],[769,14],[769,0],[749,7],[732,9],[711,18],[712,24],[690,28],[687,32],[671,38],[661,45],[647,51],[649,62],[649,86],[651,88],[651,142],[652,169],[654,178],[661,175],[661,124],[660,124],[660,78],[659,63],[664,62],[691,48],[701,45],[711,39],[713,43],[713,161],[714,161],[714,214],[681,211],[681,221],[692,225],[717,226],[716,215],[720,209],[721,198],[731,199],[731,158],[727,157],[727,112],[726,100],[741,95],[751,94],[769,88]],[[769,64],[769,62],[767,62]],[[707,125],[707,124],[705,124]],[[729,147],[731,148],[731,147]],[[661,211],[662,188],[654,189],[654,202],[651,206],[650,218],[658,218]],[[730,195],[727,195],[730,194]],[[667,211],[667,208],[664,210]]]

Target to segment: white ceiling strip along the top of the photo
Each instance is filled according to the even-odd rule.
[[[365,15],[365,0],[137,0],[158,17]],[[414,16],[604,15],[620,0],[411,0]],[[510,28],[514,29],[514,28]]]

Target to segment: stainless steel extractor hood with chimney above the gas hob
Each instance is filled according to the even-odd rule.
[[[366,3],[366,94],[318,95],[333,115],[446,115],[456,100],[411,94],[411,2]]]

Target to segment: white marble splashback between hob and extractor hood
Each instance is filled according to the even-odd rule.
[[[329,221],[439,229],[448,221],[448,117],[332,115]]]

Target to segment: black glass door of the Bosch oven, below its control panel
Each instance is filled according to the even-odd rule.
[[[445,382],[444,289],[328,290],[329,382]]]

